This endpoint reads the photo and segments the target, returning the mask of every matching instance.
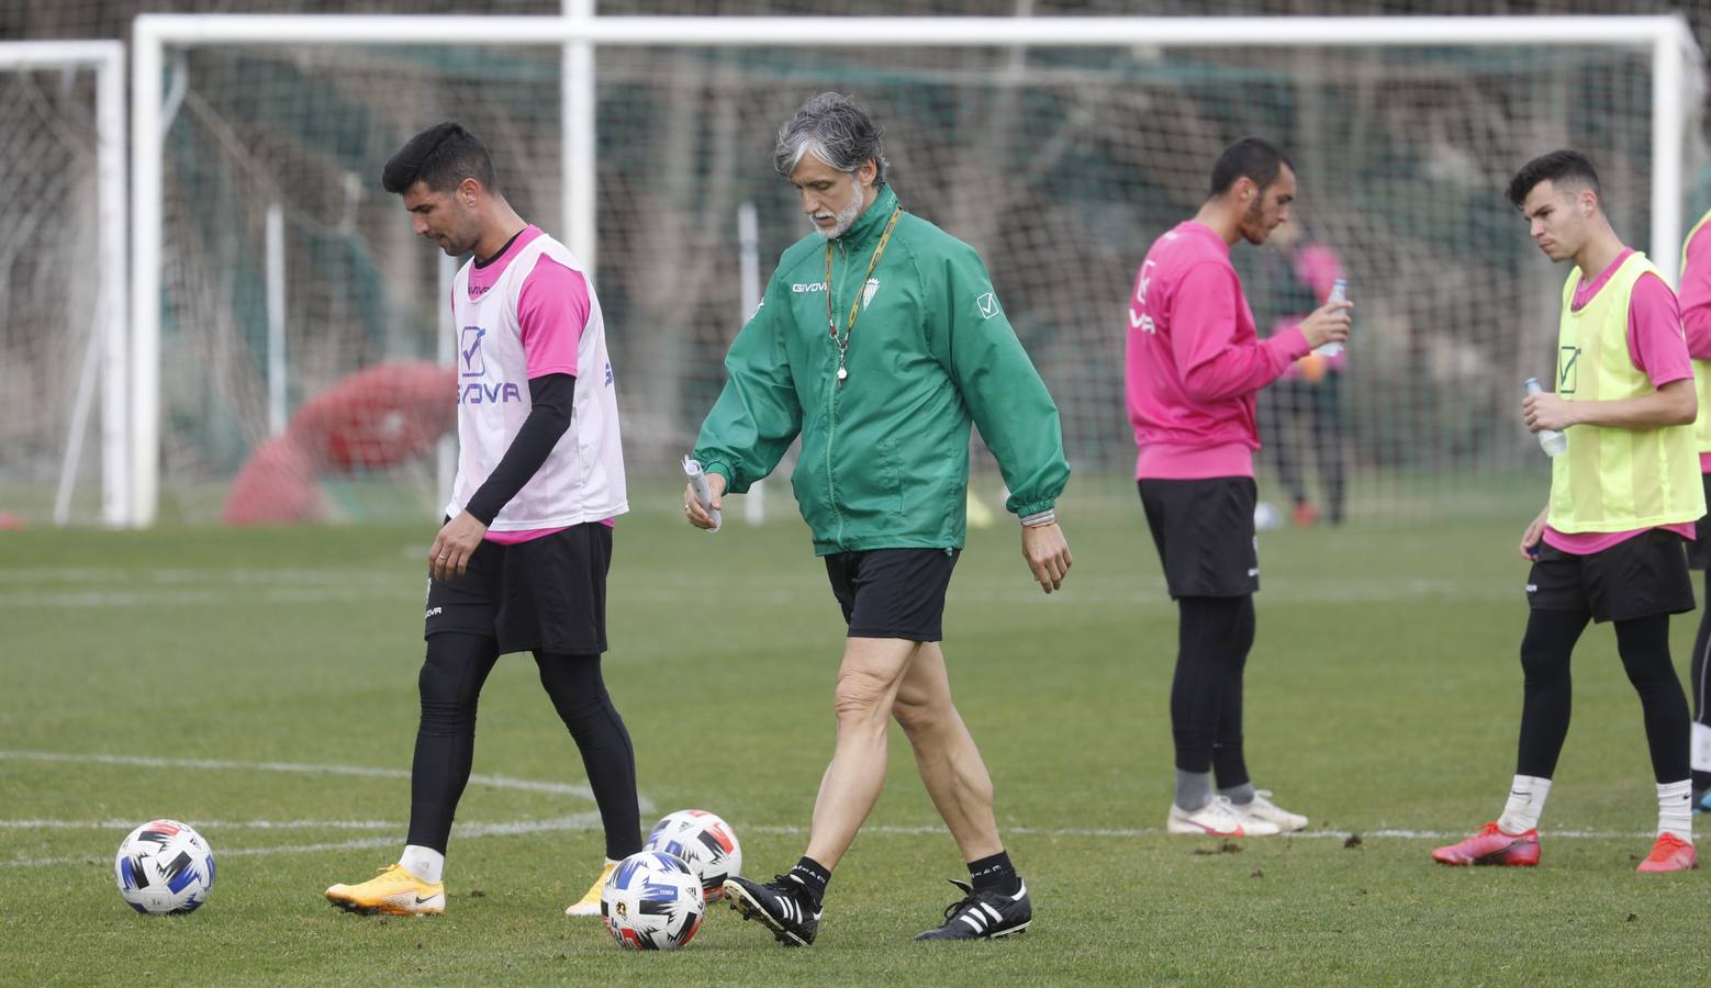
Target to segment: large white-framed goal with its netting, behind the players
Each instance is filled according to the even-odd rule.
[[[565,22],[469,31],[477,19],[462,19],[452,24],[471,39],[448,41],[363,17],[334,43],[308,39],[303,19],[267,21],[281,24],[267,38],[222,17],[139,31],[139,44],[159,38],[159,279],[142,303],[159,315],[159,381],[142,386],[157,393],[159,516],[229,511],[241,472],[327,395],[347,405],[310,410],[344,427],[349,450],[275,448],[243,491],[277,494],[298,472],[315,491],[293,504],[317,516],[424,516],[440,506],[429,434],[448,420],[450,385],[414,379],[445,398],[441,419],[424,419],[385,374],[351,383],[448,362],[441,260],[382,191],[380,168],[457,118],[493,150],[518,212],[587,250],[561,221],[578,181],[565,147],[590,150],[566,140]],[[1287,515],[1294,467],[1328,513],[1340,463],[1353,520],[1536,504],[1547,468],[1519,420],[1521,381],[1550,376],[1567,272],[1528,239],[1507,178],[1555,147],[1588,152],[1617,231],[1667,270],[1702,205],[1685,29],[1571,21],[1584,29],[1572,39],[1554,39],[1547,26],[1567,22],[1552,19],[1526,31],[1492,19],[1478,38],[1458,19],[1466,39],[1444,19],[1429,19],[1434,31],[1234,19],[1199,22],[1198,38],[1194,19],[1109,21],[1104,43],[1064,43],[1047,29],[1061,22],[1042,21],[1032,44],[1009,44],[932,19],[890,38],[861,19],[794,34],[772,19],[602,19],[592,75],[568,91],[592,89],[582,178],[636,508],[681,484],[678,458],[722,385],[756,291],[744,243],[765,279],[809,232],[770,150],[779,123],[826,89],[881,123],[905,207],[986,258],[1061,407],[1076,504],[1133,508],[1122,354],[1134,272],[1242,135],[1280,144],[1300,183],[1299,238],[1232,253],[1261,332],[1311,311],[1336,273],[1357,304],[1347,362],[1304,366],[1261,403],[1261,497]],[[645,43],[650,31],[674,34]],[[1509,41],[1492,41],[1502,31]],[[1278,44],[1287,32],[1299,41]],[[975,489],[998,506],[1001,479],[975,446]]]

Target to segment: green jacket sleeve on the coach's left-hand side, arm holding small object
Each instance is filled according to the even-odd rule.
[[[785,350],[790,308],[780,284],[775,273],[760,308],[732,340],[725,386],[695,439],[702,468],[724,477],[732,494],[772,473],[802,431],[802,405]]]

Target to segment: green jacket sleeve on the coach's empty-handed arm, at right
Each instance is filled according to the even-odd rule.
[[[1021,349],[974,250],[944,262],[943,352],[963,403],[1009,487],[1004,508],[1023,518],[1051,511],[1069,482],[1063,426],[1045,381]],[[931,297],[931,296],[929,296]]]

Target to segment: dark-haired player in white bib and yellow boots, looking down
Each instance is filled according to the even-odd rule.
[[[628,509],[606,320],[577,258],[512,210],[486,147],[457,123],[412,137],[382,181],[417,234],[472,255],[450,299],[457,480],[428,552],[409,838],[378,879],[327,899],[354,913],[445,911],[481,685],[500,655],[532,651],[606,827],[606,867],[565,911],[595,916],[606,875],[642,850],[635,750],[601,675],[611,520]]]

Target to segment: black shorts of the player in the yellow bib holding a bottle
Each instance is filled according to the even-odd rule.
[[[1526,578],[1533,610],[1590,610],[1593,620],[1632,620],[1694,609],[1685,538],[1653,528],[1603,552],[1574,556],[1538,544]]]

